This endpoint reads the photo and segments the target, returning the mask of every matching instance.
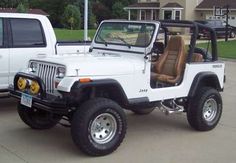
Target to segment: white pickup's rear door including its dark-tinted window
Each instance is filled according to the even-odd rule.
[[[45,57],[48,52],[42,24],[37,19],[9,18],[12,40],[10,45],[9,84],[14,75],[27,68],[28,61]]]

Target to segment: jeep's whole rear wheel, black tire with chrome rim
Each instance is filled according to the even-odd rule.
[[[189,102],[187,119],[191,127],[199,131],[213,129],[222,113],[222,99],[219,92],[203,87]]]

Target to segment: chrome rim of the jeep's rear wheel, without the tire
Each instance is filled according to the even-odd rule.
[[[217,102],[215,99],[208,99],[203,105],[203,118],[207,122],[211,122],[217,115]]]

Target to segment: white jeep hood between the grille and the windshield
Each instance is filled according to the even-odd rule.
[[[133,74],[137,68],[135,65],[144,64],[141,58],[140,56],[88,54],[52,56],[37,60],[66,66],[66,76],[77,74],[78,76],[114,76]]]

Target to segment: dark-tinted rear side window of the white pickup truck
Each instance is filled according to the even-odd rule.
[[[45,47],[42,26],[35,19],[10,19],[13,47]]]

